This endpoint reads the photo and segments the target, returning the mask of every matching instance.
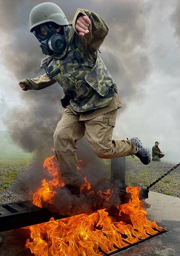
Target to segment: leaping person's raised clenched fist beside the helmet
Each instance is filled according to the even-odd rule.
[[[84,36],[89,33],[88,26],[90,25],[90,19],[85,16],[79,16],[76,20],[75,28],[78,31],[79,36]]]

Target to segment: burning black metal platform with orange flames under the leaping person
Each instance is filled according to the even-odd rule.
[[[0,207],[1,231],[29,226],[25,228],[29,233],[26,248],[34,255],[112,255],[166,232],[147,220],[139,197],[148,193],[139,187],[95,192],[84,178],[81,191],[85,188],[87,193],[81,198],[69,195],[70,201],[66,195],[61,200],[63,183],[58,180],[56,165],[53,157],[46,159],[44,166],[53,178],[43,180],[42,188],[34,194],[34,205],[26,201]]]

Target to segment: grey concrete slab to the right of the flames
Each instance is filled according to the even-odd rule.
[[[148,220],[156,220],[158,226],[169,231],[114,256],[179,256],[180,198],[150,191],[146,202],[151,204]]]

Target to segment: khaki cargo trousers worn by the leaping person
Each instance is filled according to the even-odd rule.
[[[100,158],[129,156],[137,152],[131,140],[112,140],[116,116],[117,109],[91,120],[79,121],[79,115],[69,108],[65,109],[54,132],[54,148],[65,184],[82,184],[77,173],[76,141],[84,135]]]

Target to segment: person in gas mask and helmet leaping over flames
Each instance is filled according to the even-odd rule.
[[[100,158],[136,155],[143,164],[150,154],[138,138],[112,140],[116,115],[121,103],[112,76],[98,50],[109,28],[95,12],[78,9],[71,24],[54,3],[36,5],[30,13],[32,32],[46,57],[40,68],[46,74],[23,79],[20,87],[41,90],[58,82],[64,92],[65,108],[54,132],[54,147],[61,177],[73,194],[82,183],[77,173],[76,141],[86,135]]]

